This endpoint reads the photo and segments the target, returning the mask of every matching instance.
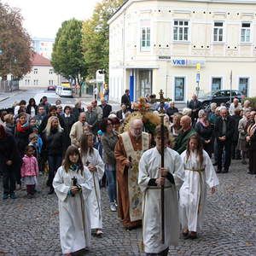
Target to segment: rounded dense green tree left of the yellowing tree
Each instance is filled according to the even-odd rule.
[[[80,76],[86,75],[82,53],[82,21],[72,19],[61,24],[56,34],[51,64],[55,72],[66,79],[80,82]]]

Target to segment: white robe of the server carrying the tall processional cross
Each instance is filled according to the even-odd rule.
[[[165,189],[165,244],[161,241],[160,187],[148,186],[151,178],[160,177],[160,166],[157,148],[146,151],[139,163],[138,184],[143,191],[143,244],[146,253],[160,253],[166,247],[176,246],[179,236],[177,189],[183,183],[183,163],[176,151],[165,149],[165,167],[173,174],[176,184],[172,185],[166,178],[165,186],[172,186]]]

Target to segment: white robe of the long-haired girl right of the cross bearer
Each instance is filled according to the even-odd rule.
[[[186,152],[185,150],[181,154],[185,177],[183,186],[179,190],[179,216],[183,229],[197,232],[201,230],[204,220],[204,209],[207,199],[206,184],[210,188],[217,186],[218,177],[206,151],[203,151],[203,166],[200,165],[196,152],[190,154],[188,161]],[[186,169],[205,169],[205,171],[201,172],[201,178],[199,172]]]

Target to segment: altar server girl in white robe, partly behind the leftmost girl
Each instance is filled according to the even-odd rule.
[[[104,175],[104,163],[98,150],[93,148],[93,138],[92,133],[82,135],[80,152],[83,164],[88,167],[93,179],[93,189],[89,196],[91,229],[96,230],[97,236],[101,236],[103,232],[100,180]]]

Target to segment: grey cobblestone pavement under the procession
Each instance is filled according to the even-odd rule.
[[[230,172],[218,174],[221,185],[215,195],[208,194],[206,221],[197,240],[180,239],[170,255],[251,255],[256,256],[256,178],[247,166],[234,160]],[[45,177],[42,191],[26,199],[0,201],[0,255],[61,255],[58,203],[47,195]],[[1,181],[2,182],[2,181]],[[104,235],[93,237],[90,252],[76,255],[144,255],[139,253],[140,230],[125,231],[116,212],[110,212],[102,189]]]

